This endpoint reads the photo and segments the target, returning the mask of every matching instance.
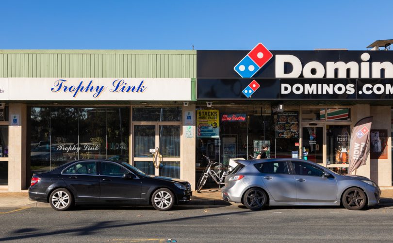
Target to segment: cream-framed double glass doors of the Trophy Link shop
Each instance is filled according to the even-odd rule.
[[[181,124],[134,123],[132,134],[136,167],[149,175],[180,178]]]

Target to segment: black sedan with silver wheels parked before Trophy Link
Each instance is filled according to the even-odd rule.
[[[75,204],[152,205],[160,211],[190,201],[185,180],[149,176],[126,162],[81,160],[34,174],[29,199],[57,211]]]

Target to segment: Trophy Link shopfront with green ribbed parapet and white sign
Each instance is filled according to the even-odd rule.
[[[196,51],[1,50],[0,187],[81,159],[195,180],[195,78]]]

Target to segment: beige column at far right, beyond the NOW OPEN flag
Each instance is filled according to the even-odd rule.
[[[370,160],[370,179],[374,180],[379,186],[392,186],[391,107],[371,106],[370,115],[374,117],[371,129],[388,131],[387,144],[381,144],[382,148],[387,147],[385,149],[388,151],[388,158]]]

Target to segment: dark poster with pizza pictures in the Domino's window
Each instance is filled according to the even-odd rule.
[[[276,138],[299,137],[299,113],[279,112],[274,116]]]

